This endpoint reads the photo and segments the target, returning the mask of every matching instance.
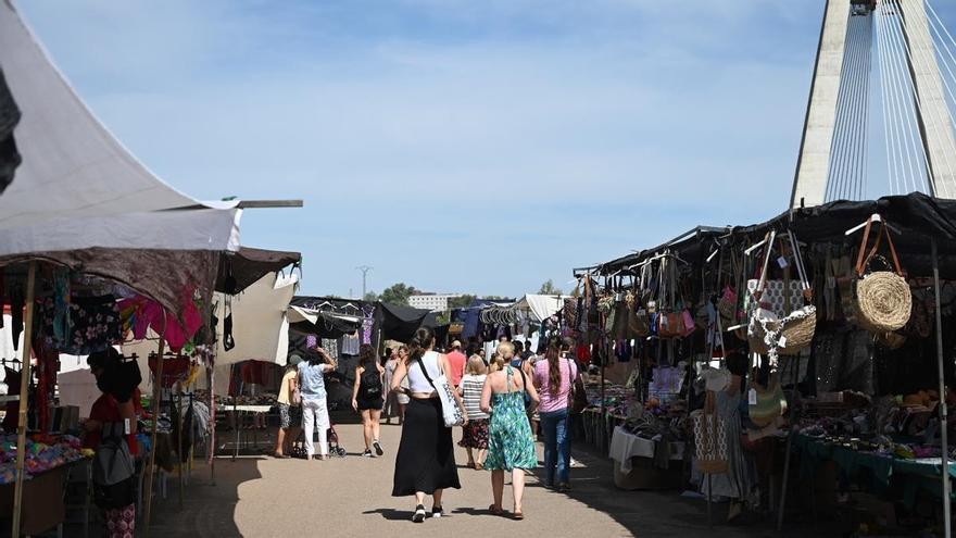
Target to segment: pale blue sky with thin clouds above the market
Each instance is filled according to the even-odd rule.
[[[304,293],[565,289],[789,201],[823,1],[21,1],[168,183],[250,210]]]

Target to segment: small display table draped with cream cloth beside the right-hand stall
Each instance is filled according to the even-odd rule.
[[[614,460],[614,484],[620,489],[677,489],[681,486],[681,465],[655,464],[657,442],[638,437],[620,426],[614,428],[611,459]],[[682,461],[685,443],[667,445],[669,462]]]

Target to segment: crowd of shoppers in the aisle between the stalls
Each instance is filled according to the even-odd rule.
[[[276,458],[289,458],[290,445],[304,434],[305,453],[328,458],[330,427],[325,377],[337,362],[320,347],[307,360],[290,355],[279,387],[281,427]],[[474,351],[474,352],[473,352]],[[578,368],[567,346],[551,338],[538,348],[503,340],[492,355],[485,350],[453,341],[449,352],[436,350],[435,333],[418,329],[408,342],[388,351],[379,361],[372,346],[360,347],[352,386],[352,408],[362,416],[363,456],[381,456],[381,418],[398,420],[402,426],[395,455],[392,496],[415,497],[412,520],[441,517],[446,489],[461,488],[455,463],[452,427],[445,426],[440,391],[448,387],[444,402],[457,406],[464,421],[458,446],[467,452],[467,467],[491,472],[489,512],[504,515],[505,473],[511,474],[513,511],[524,518],[526,475],[539,462],[532,423],[540,420],[544,441],[543,483],[549,489],[570,488],[571,403]],[[319,446],[316,449],[313,436]],[[301,428],[300,428],[301,426]],[[430,509],[426,499],[431,497]]]

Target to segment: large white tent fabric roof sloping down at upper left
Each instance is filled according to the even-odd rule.
[[[147,170],[87,109],[9,0],[0,1],[0,67],[23,113],[14,130],[23,164],[0,196],[0,257],[239,249],[237,202],[200,203]]]

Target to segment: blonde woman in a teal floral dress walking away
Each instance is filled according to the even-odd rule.
[[[512,473],[512,488],[515,497],[515,520],[524,520],[521,498],[525,493],[525,471],[538,466],[538,452],[534,450],[534,438],[525,410],[525,391],[537,404],[538,391],[527,381],[521,371],[508,363],[515,354],[510,342],[498,347],[498,370],[488,375],[485,389],[481,391],[481,410],[491,414],[489,427],[488,458],[485,468],[491,471],[491,490],[494,504],[489,510],[502,515],[502,496],[504,493],[504,472]]]

